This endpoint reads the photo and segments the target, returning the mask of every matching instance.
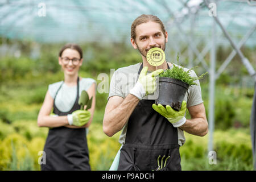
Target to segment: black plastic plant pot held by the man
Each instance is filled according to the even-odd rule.
[[[189,85],[174,78],[159,77],[159,95],[155,104],[170,105],[179,111]]]

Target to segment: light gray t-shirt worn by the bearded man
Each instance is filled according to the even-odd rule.
[[[114,72],[110,82],[108,99],[112,96],[119,96],[125,98],[129,94],[130,89],[132,89],[137,82],[140,66],[140,63],[137,63],[128,67],[119,68],[117,69],[117,71]],[[173,65],[170,67],[170,69],[172,69],[172,67]],[[188,69],[184,68],[184,70],[187,71]],[[192,77],[196,77],[196,73],[194,71],[191,71],[190,75]],[[196,80],[195,82],[197,85],[189,86],[188,92],[185,94],[184,100],[187,102],[187,107],[199,105],[203,102],[201,97],[200,82],[199,80]],[[122,133],[119,138],[119,142],[121,144],[125,144],[127,125],[128,123],[126,123],[126,125],[123,127]],[[185,143],[185,136],[183,130],[177,128],[177,133],[178,143],[180,146],[182,146]]]

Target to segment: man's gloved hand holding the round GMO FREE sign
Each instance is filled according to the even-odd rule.
[[[142,100],[144,96],[147,94],[151,94],[155,92],[156,89],[156,78],[160,73],[163,72],[163,69],[158,69],[147,75],[148,67],[144,67],[139,74],[139,79],[135,84],[134,88],[130,90],[130,94],[138,97],[139,100]]]

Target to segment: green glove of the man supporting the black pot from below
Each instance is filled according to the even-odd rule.
[[[168,121],[172,123],[174,127],[180,127],[184,125],[184,123],[186,122],[186,118],[184,117],[185,111],[187,109],[186,101],[182,102],[180,111],[172,109],[172,107],[169,105],[164,107],[161,104],[153,104],[152,107],[155,111],[157,111],[159,114],[163,115],[163,117],[168,119]]]

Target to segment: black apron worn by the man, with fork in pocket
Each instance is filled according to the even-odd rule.
[[[138,75],[142,68],[143,64]],[[177,128],[152,108],[154,103],[155,100],[141,100],[131,114],[118,170],[155,170],[159,155],[160,159],[165,155],[163,163],[170,156],[161,170],[181,170]]]

